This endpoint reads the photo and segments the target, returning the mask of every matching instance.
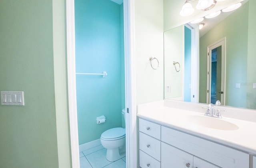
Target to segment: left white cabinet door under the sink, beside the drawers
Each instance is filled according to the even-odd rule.
[[[161,168],[193,168],[193,155],[162,142]]]

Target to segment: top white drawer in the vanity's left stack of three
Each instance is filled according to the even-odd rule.
[[[153,136],[156,139],[161,138],[161,126],[153,122],[149,122],[139,118],[139,130],[150,136]]]

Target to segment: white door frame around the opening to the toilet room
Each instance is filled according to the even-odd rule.
[[[66,44],[68,76],[68,110],[72,167],[80,167],[76,106],[74,0],[66,0]],[[134,48],[134,0],[124,0],[124,52],[126,96],[126,168],[137,167],[136,73]]]

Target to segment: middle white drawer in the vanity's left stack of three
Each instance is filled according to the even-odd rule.
[[[160,161],[161,141],[140,132],[140,150]]]

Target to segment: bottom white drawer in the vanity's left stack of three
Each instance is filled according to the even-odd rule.
[[[161,164],[145,152],[140,150],[140,167],[141,168],[160,168]]]

